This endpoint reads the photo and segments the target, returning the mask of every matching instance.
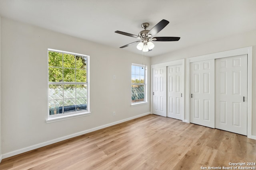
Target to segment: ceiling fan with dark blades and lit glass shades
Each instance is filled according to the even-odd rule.
[[[179,41],[180,37],[153,37],[157,33],[159,33],[166,25],[169,23],[167,20],[162,20],[158,22],[152,29],[147,30],[149,23],[142,23],[141,27],[144,30],[140,31],[138,35],[125,33],[122,31],[115,31],[115,33],[119,33],[122,35],[126,35],[129,37],[134,37],[140,39],[139,41],[135,41],[133,43],[124,45],[120,48],[128,47],[130,45],[136,44],[138,50],[142,50],[143,52],[151,51],[154,48],[154,44],[151,41]]]

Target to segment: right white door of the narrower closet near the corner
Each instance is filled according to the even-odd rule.
[[[182,64],[167,67],[167,117],[182,120]],[[184,94],[183,94],[184,95]]]

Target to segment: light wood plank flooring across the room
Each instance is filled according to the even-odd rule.
[[[256,140],[146,115],[3,159],[0,169],[200,170],[229,162],[256,162]]]

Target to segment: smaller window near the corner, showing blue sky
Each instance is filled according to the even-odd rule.
[[[132,64],[132,104],[146,102],[146,66]]]

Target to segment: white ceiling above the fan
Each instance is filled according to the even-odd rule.
[[[138,39],[114,31],[137,35],[144,22],[168,20],[156,36],[181,38],[154,42],[152,57],[256,29],[256,0],[0,0],[0,16],[115,48]]]

